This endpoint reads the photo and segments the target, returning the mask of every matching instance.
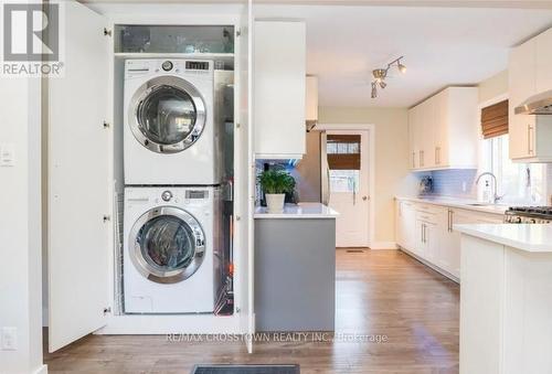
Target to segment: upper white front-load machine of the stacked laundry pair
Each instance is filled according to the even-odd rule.
[[[220,131],[212,61],[125,62],[126,185],[215,185]]]

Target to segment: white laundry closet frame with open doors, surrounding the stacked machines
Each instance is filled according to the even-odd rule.
[[[252,3],[220,18],[187,15],[189,4],[127,15],[98,13],[77,1],[64,3],[65,76],[49,81],[47,286],[50,351],[85,334],[252,333],[253,310],[253,31]],[[102,9],[102,7],[97,6]],[[209,6],[205,6],[209,9]],[[217,6],[212,6],[213,11]],[[240,9],[242,13],[240,13]],[[203,22],[203,23],[201,23]],[[116,24],[225,24],[235,30],[234,82],[234,291],[232,316],[117,313],[117,211],[114,167],[121,58],[114,53]],[[112,31],[112,34],[109,32]],[[172,54],[173,58],[190,57]],[[205,58],[205,56],[203,56]],[[302,75],[304,77],[304,75]],[[78,93],[78,95],[75,95]],[[304,97],[304,96],[302,96]],[[302,104],[304,107],[304,104]],[[83,115],[85,114],[85,115]],[[78,126],[75,126],[77,120]],[[99,329],[99,330],[98,330]],[[248,349],[252,342],[247,342]]]

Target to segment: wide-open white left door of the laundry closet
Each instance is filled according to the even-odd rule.
[[[65,75],[45,95],[50,352],[103,327],[109,306],[108,38],[99,14],[63,4]]]

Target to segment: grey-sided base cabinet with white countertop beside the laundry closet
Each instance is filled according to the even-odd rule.
[[[257,331],[333,331],[336,217],[320,203],[255,212]]]

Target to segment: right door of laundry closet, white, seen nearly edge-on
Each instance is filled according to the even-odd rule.
[[[237,231],[236,253],[236,312],[240,314],[241,329],[252,336],[255,332],[254,314],[254,258],[253,258],[253,212],[254,212],[254,162],[253,162],[253,129],[252,129],[252,43],[253,43],[253,15],[252,0],[244,1],[244,10],[241,17],[240,39],[237,43],[237,89],[240,92],[238,113],[240,126],[236,128],[236,175],[235,175],[235,202]],[[253,352],[253,341],[245,339],[247,351]]]

